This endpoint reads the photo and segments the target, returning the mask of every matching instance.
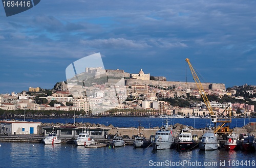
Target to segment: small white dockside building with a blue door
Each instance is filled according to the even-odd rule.
[[[41,122],[27,121],[0,121],[1,134],[37,134],[37,126]]]

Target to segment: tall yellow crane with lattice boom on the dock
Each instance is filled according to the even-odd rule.
[[[193,66],[190,64],[189,59],[186,59],[186,62],[188,63],[190,71],[191,71],[191,73],[193,75],[193,78],[194,78],[194,80],[196,82],[196,85],[198,87],[199,93],[201,94],[201,96],[202,96],[202,98],[204,100],[204,103],[205,103],[205,105],[206,105],[206,107],[207,107],[207,109],[208,109],[208,111],[210,113],[211,122],[215,124],[214,132],[218,133],[218,134],[230,133],[231,130],[229,129],[229,125],[224,127],[225,124],[231,123],[231,109],[230,109],[230,106],[228,106],[224,110],[224,111],[226,111],[226,110],[228,111],[228,115],[229,115],[228,119],[226,119],[226,118],[223,119],[223,118],[220,118],[220,117],[217,118],[217,115],[214,114],[214,111],[211,108],[210,102],[209,102],[209,100],[208,100],[208,98],[206,96],[206,93],[204,91],[202,83],[200,82],[200,80],[199,80],[199,78],[197,76],[196,71],[194,70]],[[220,124],[217,126],[217,123],[220,123]]]

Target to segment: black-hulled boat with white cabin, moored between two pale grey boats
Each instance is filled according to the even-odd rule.
[[[177,150],[193,150],[198,145],[198,136],[192,136],[191,129],[186,127],[183,128],[178,135],[178,146]]]

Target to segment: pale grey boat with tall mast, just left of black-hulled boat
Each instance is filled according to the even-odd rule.
[[[174,136],[172,128],[168,129],[168,121],[166,120],[165,127],[158,130],[153,142],[153,149],[170,149],[174,143]]]

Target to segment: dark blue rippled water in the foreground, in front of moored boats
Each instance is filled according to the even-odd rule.
[[[220,162],[225,165],[223,167],[231,167],[232,162],[232,167],[242,167],[241,161],[247,161],[247,167],[255,167],[249,166],[249,161],[250,164],[256,161],[256,152],[223,149],[177,152],[169,149],[153,151],[151,147],[134,149],[133,146],[91,149],[72,144],[0,143],[0,167],[152,167],[161,165],[161,162],[165,163],[162,163],[162,166],[168,167],[172,164],[170,161],[178,162],[176,165],[179,164],[180,167],[195,167],[196,164],[201,167],[220,167]],[[236,161],[239,161],[240,165],[235,164]]]

